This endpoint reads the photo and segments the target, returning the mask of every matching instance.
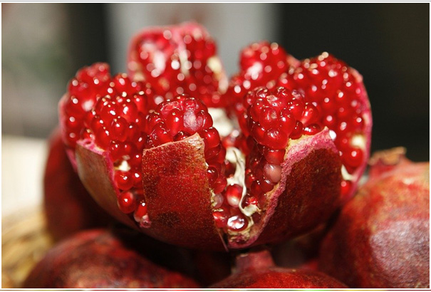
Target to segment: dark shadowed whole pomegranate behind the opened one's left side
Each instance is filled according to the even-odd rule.
[[[50,233],[58,240],[81,229],[107,226],[112,217],[94,202],[73,170],[58,128],[51,134],[48,147],[43,207]]]

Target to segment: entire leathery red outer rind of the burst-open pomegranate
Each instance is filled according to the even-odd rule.
[[[81,140],[76,162],[81,180],[96,202],[123,223],[170,244],[221,251],[291,238],[313,229],[338,207],[341,160],[328,130],[291,142],[286,153],[281,182],[269,194],[259,224],[249,235],[228,239],[212,216],[204,142],[199,135],[144,150],[147,226],[138,226],[133,217],[118,209],[118,189],[113,188],[113,167],[106,153]]]

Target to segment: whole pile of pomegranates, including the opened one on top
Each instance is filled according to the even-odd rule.
[[[260,41],[227,78],[214,39],[194,23],[137,33],[127,68],[81,68],[60,100],[48,226],[57,238],[103,229],[49,251],[26,288],[429,287],[429,164],[380,154],[354,196],[372,127],[355,69]],[[62,219],[71,205],[76,216]],[[124,227],[110,216],[137,235],[113,231]],[[274,264],[271,247],[307,236],[314,246],[324,238],[315,264]],[[292,246],[275,247],[275,261],[301,252]]]

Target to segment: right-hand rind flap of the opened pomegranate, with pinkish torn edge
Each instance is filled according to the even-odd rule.
[[[267,207],[250,234],[229,240],[229,248],[282,241],[311,231],[340,205],[341,159],[325,128],[291,140],[281,165],[281,181],[267,193]],[[249,238],[246,238],[249,236]]]

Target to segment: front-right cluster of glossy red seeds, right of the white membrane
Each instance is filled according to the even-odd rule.
[[[249,91],[244,98],[244,108],[247,109],[244,113],[247,127],[243,131],[251,133],[249,139],[253,145],[246,160],[246,185],[249,187],[246,200],[257,202],[257,207],[263,209],[265,199],[262,196],[281,179],[281,164],[289,141],[320,132],[321,125],[316,123],[319,113],[303,95],[282,87]]]

